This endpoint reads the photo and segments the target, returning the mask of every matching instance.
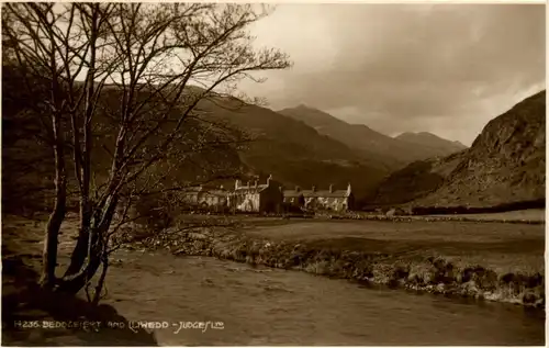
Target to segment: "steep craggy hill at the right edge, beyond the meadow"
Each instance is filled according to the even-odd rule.
[[[376,203],[489,207],[545,200],[545,123],[542,91],[490,121],[470,148],[393,172]]]

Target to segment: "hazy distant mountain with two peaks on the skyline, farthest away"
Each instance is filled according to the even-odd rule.
[[[350,148],[360,150],[363,157],[381,162],[392,170],[400,169],[414,160],[447,156],[464,148],[435,135],[426,135],[427,133],[421,133],[419,135],[404,134],[393,138],[366,125],[348,124],[328,113],[303,104],[278,112],[302,121],[318,133],[328,135]]]

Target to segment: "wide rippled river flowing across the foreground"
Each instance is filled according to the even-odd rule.
[[[128,321],[166,322],[169,328],[155,330],[165,346],[545,345],[545,313],[516,305],[368,289],[214,258],[130,250],[116,257],[104,302]],[[178,324],[209,321],[223,326]]]

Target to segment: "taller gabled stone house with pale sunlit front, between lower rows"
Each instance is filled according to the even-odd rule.
[[[233,211],[250,213],[280,213],[282,212],[282,186],[269,176],[267,183],[246,186],[236,180],[235,190],[228,195],[228,206]]]

